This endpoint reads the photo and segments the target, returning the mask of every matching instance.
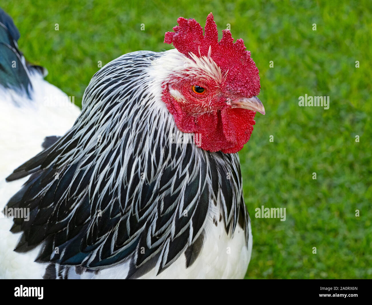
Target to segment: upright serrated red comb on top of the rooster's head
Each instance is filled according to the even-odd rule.
[[[179,26],[174,32],[166,32],[164,43],[173,43],[182,54],[191,58],[189,53],[197,56],[208,56],[211,47],[211,58],[220,67],[223,75],[228,71],[226,81],[230,90],[243,96],[251,97],[260,92],[260,77],[256,64],[246,50],[243,39],[234,43],[229,30],[222,31],[222,39],[218,42],[218,30],[210,13],[203,28],[195,19],[178,18]]]

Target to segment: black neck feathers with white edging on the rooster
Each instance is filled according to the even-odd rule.
[[[37,261],[66,276],[71,266],[80,274],[126,264],[133,278],[181,255],[192,266],[218,218],[229,236],[243,228],[248,243],[237,153],[202,150],[191,134],[182,134],[189,144],[170,139],[181,132],[161,83],[185,61],[177,53],[138,51],[100,69],[74,126],[7,178],[31,174],[7,204],[31,210],[28,222],[14,219],[16,251],[41,245]]]

